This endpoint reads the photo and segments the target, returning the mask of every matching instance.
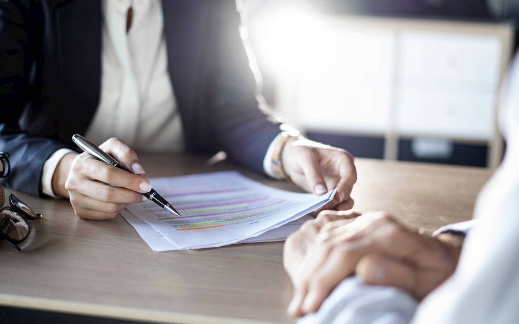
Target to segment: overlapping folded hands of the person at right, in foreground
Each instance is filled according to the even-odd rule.
[[[290,241],[304,236],[301,232],[309,232],[308,226],[292,234],[284,250],[285,269],[295,289],[288,308],[292,316],[316,312],[354,273],[366,284],[398,287],[421,300],[454,272],[461,250],[386,213],[367,213],[353,221],[326,223],[306,241],[304,257],[295,260],[291,255],[301,254],[301,249]]]

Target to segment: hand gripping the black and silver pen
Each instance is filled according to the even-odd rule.
[[[74,212],[85,219],[117,217],[130,203],[143,201],[151,190],[134,150],[118,138],[99,146],[135,174],[98,161],[87,153],[67,154],[52,177],[54,193],[69,197]],[[64,180],[63,180],[64,179]]]

